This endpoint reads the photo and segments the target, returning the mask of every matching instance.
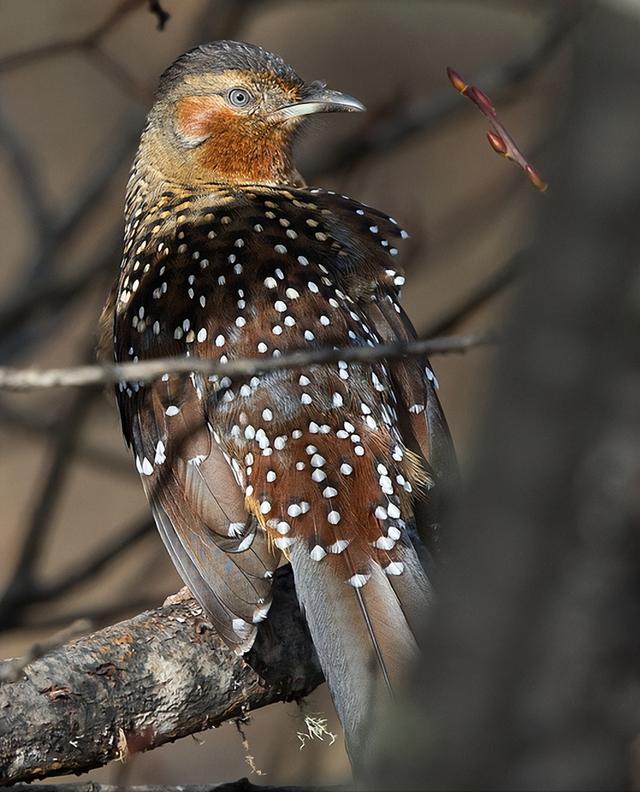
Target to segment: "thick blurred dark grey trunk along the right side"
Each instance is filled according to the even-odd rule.
[[[627,789],[640,731],[640,27],[589,4],[382,789]],[[533,266],[535,262],[535,266]]]

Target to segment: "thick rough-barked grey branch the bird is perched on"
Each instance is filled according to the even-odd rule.
[[[322,672],[288,567],[275,589],[246,663],[190,600],[27,666],[20,681],[0,687],[0,783],[83,772],[310,693]]]

